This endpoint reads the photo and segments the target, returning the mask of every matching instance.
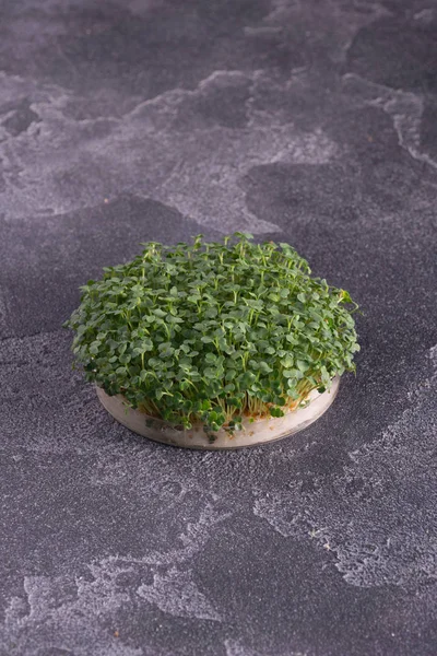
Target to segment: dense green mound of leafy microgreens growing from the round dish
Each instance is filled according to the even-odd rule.
[[[354,371],[347,292],[310,277],[287,244],[154,242],[81,288],[67,326],[87,380],[133,408],[206,432],[281,417]]]

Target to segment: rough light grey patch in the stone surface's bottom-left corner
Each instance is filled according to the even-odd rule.
[[[150,645],[125,644],[121,617],[147,612],[152,605],[172,617],[221,621],[221,612],[199,589],[185,563],[204,547],[215,524],[224,518],[223,513],[206,506],[198,520],[187,524],[179,547],[170,552],[164,538],[161,552],[145,551],[143,558],[107,557],[87,564],[85,574],[80,573],[83,564],[74,574],[72,563],[73,573],[64,576],[25,576],[23,595],[8,604],[4,643],[32,654],[47,645],[86,656],[166,653],[153,645],[153,636]]]

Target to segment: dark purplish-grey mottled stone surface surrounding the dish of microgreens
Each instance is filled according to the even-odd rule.
[[[436,654],[434,0],[0,1],[1,656]],[[364,308],[293,438],[149,443],[78,285],[250,230]]]

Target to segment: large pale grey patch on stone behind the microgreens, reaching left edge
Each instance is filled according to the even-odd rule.
[[[319,128],[300,132],[293,122],[251,112],[259,77],[215,71],[196,91],[165,92],[122,118],[74,120],[63,112],[68,93],[37,98],[32,106],[42,122],[0,144],[8,216],[45,210],[48,201],[54,212],[64,213],[129,191],[170,204],[200,225],[220,226],[224,233],[248,230],[249,224],[256,234],[279,232],[277,225],[247,209],[244,175],[259,164],[323,163],[336,148]],[[246,97],[248,84],[251,92]],[[204,103],[220,89],[235,94],[239,85],[247,125],[184,127],[192,102]]]

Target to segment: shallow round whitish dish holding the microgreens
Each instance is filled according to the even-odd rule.
[[[319,394],[316,389],[312,390],[308,396],[309,403],[305,408],[298,408],[284,417],[270,417],[255,421],[244,418],[243,430],[229,434],[221,429],[214,434],[216,435],[214,442],[210,442],[203,431],[203,424],[200,422],[189,430],[179,429],[161,419],[149,417],[141,410],[132,410],[126,406],[125,399],[120,395],[108,396],[97,387],[97,396],[114,419],[139,435],[173,446],[217,450],[274,442],[306,429],[331,406],[336,396],[339,383],[340,377],[335,376],[329,391]]]

